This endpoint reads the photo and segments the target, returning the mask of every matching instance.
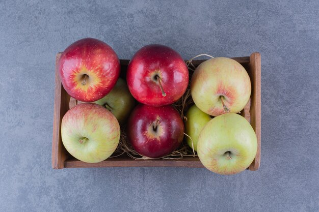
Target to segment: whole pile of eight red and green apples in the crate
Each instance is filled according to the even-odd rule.
[[[189,84],[181,56],[163,45],[148,45],[131,58],[126,82],[120,62],[106,43],[86,38],[67,47],[58,63],[66,92],[78,101],[63,117],[62,142],[76,159],[109,158],[120,140],[120,125],[141,156],[161,158],[189,135],[187,143],[202,164],[219,174],[245,170],[257,152],[257,138],[240,112],[251,95],[243,66],[226,57],[200,64],[191,79],[194,105],[183,123],[171,105]],[[139,104],[136,104],[136,100]]]

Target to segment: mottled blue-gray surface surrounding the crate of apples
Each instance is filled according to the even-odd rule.
[[[1,1],[0,211],[319,211],[319,2]],[[262,56],[261,166],[51,168],[55,55],[94,37],[120,58]]]

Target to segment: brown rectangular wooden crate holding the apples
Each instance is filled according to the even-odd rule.
[[[64,148],[61,139],[61,121],[64,114],[70,108],[70,99],[62,86],[57,68],[61,53],[56,56],[56,86],[55,86],[55,103],[54,103],[54,121],[52,137],[52,167],[54,169],[62,168],[84,168],[84,167],[141,167],[141,166],[170,166],[170,167],[196,167],[203,168],[198,157],[184,157],[178,160],[134,160],[123,154],[117,158],[109,158],[99,163],[85,163],[73,158]],[[258,147],[257,154],[249,166],[249,170],[255,171],[260,165],[260,118],[261,118],[261,100],[260,100],[260,54],[252,53],[246,57],[234,57],[247,70],[252,83],[252,93],[250,102],[241,112],[247,120],[250,120],[251,126],[257,135]],[[194,60],[193,64],[198,66],[204,60]],[[129,60],[120,60],[121,76],[125,78],[126,69]],[[71,102],[72,105],[72,102]]]

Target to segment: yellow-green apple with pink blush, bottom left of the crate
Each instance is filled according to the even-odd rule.
[[[102,106],[83,103],[63,116],[61,137],[66,150],[74,158],[97,163],[114,153],[120,140],[120,125]]]

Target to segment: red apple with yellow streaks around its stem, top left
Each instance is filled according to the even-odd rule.
[[[120,61],[108,44],[85,38],[64,50],[58,69],[63,87],[71,97],[94,102],[114,87],[120,75]],[[85,74],[88,79],[82,84]]]

